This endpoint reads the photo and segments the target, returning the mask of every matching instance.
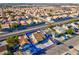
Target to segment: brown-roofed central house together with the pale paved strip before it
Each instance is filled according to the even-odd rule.
[[[40,31],[32,33],[30,38],[32,39],[33,43],[38,43],[39,41],[42,41],[42,44],[40,42],[38,45],[36,45],[36,47],[38,47],[38,48],[43,49],[47,46],[54,44],[51,40],[49,40],[45,37],[44,33],[41,33]],[[44,38],[47,39],[47,40],[44,40]]]

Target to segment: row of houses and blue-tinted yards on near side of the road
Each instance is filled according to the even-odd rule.
[[[50,46],[53,46],[55,44],[59,45],[63,43],[63,41],[69,40],[70,38],[73,38],[78,34],[79,34],[79,21],[51,28],[33,30],[31,32],[26,32],[23,35],[18,35],[17,36],[18,43],[13,46],[12,45],[9,46],[10,42],[7,41],[5,42],[7,43],[6,46],[9,46],[9,49],[11,49],[11,52],[13,54],[16,55],[18,54],[28,55],[35,53],[40,54],[43,53],[41,52],[41,50],[45,51],[44,49]],[[13,38],[8,38],[7,40],[9,39],[12,40],[15,38],[16,36],[14,36]]]

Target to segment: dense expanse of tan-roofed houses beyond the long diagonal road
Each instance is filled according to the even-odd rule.
[[[77,7],[0,8],[0,29],[12,31],[10,28],[70,20],[79,16],[78,10]]]

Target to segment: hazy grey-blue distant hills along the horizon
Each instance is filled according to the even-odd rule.
[[[62,5],[73,5],[73,6],[79,6],[79,4],[76,3],[0,3],[0,7],[11,7],[11,6],[19,6],[19,5],[25,5],[25,6],[62,6]]]

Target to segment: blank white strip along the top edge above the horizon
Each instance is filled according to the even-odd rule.
[[[0,0],[0,3],[79,3],[79,0]]]

